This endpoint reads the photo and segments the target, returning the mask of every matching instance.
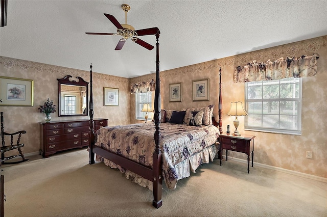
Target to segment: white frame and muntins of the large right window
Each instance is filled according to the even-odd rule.
[[[291,78],[287,78],[288,80],[290,80]],[[294,79],[298,79],[295,80]],[[289,82],[289,85],[295,85],[296,83],[298,83],[298,97],[293,97],[293,98],[283,98],[281,97],[281,85],[285,85],[287,83],[285,83],[285,79],[279,79],[279,80],[262,80],[260,82],[248,82],[245,83],[245,110],[247,111],[247,113],[249,114],[249,102],[262,102],[262,104],[264,102],[276,102],[278,101],[278,127],[268,127],[268,126],[264,126],[263,124],[263,115],[268,115],[264,112],[264,106],[261,106],[261,114],[258,113],[258,116],[261,115],[261,126],[251,126],[249,125],[249,116],[253,115],[253,114],[249,114],[247,116],[245,116],[244,118],[244,129],[245,130],[251,130],[251,131],[261,131],[261,132],[272,132],[272,133],[281,133],[281,134],[295,134],[295,135],[301,135],[302,134],[302,113],[301,113],[301,109],[302,109],[302,79],[301,78],[292,78],[293,82]],[[268,87],[271,85],[271,83],[273,82],[278,82],[278,97],[275,98],[264,98],[264,92],[263,89],[264,87]],[[261,83],[261,88],[262,88],[262,96],[259,99],[248,99],[248,86],[253,84],[253,83]],[[281,114],[281,106],[279,106],[281,104],[281,102],[283,101],[293,101],[294,103],[297,104],[297,115],[295,115],[296,120],[296,128],[293,129],[285,129],[283,127],[281,127],[281,117],[285,116],[285,114]],[[274,114],[276,115],[276,114]],[[290,116],[290,115],[288,115]]]

